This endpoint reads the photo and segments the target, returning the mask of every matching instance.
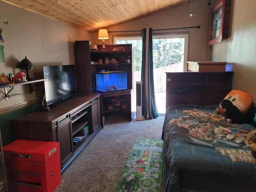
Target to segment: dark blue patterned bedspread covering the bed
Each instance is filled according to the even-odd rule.
[[[164,140],[166,192],[253,192],[256,167],[247,142],[255,129],[229,124],[216,106],[169,106]],[[255,189],[255,190],[254,190]]]

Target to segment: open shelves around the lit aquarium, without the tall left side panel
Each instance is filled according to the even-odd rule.
[[[127,72],[127,90],[118,90],[104,92],[102,94],[102,108],[103,115],[105,114],[119,114],[128,116],[129,120],[132,120],[132,108],[131,108],[131,90],[132,90],[132,63],[128,63],[126,60],[130,56],[132,60],[132,45],[131,44],[118,44],[118,45],[106,45],[105,51],[102,51],[102,45],[97,45],[98,51],[91,51],[91,61],[97,62],[102,59],[103,64],[92,65],[92,85],[96,86],[95,74],[101,70],[106,71],[124,71]],[[113,51],[116,48],[118,51]],[[108,57],[109,60],[116,59],[119,61],[117,64],[104,64],[104,60]],[[97,92],[93,86],[93,91]],[[106,109],[106,102],[112,97],[119,97],[126,100],[128,108],[122,109],[120,106],[115,106],[113,110]]]

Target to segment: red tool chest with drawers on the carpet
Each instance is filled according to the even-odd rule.
[[[53,192],[61,183],[59,142],[16,140],[3,151],[9,192]]]

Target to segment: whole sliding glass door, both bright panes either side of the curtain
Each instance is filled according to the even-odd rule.
[[[132,112],[136,112],[136,81],[141,80],[142,37],[114,37],[114,44],[132,44]],[[165,114],[166,72],[187,70],[188,34],[153,34],[154,88],[157,110]]]

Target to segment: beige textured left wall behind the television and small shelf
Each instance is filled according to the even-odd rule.
[[[4,45],[6,60],[6,63],[0,63],[1,76],[25,72],[17,67],[25,56],[34,66],[34,70],[29,72],[34,78],[42,77],[44,65],[74,64],[74,41],[91,38],[89,33],[5,2],[0,1],[0,8],[0,27],[3,28],[4,39],[0,45]],[[4,19],[8,21],[8,25],[3,24]],[[28,85],[15,86],[11,94],[24,93],[28,90]],[[4,96],[2,92],[4,89],[0,88],[0,98]],[[41,96],[39,92],[37,94]],[[0,112],[17,104],[34,102],[36,99],[38,96],[35,93],[12,96],[8,101],[0,101]]]

